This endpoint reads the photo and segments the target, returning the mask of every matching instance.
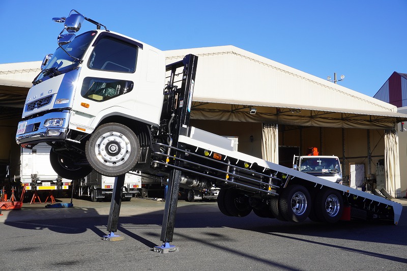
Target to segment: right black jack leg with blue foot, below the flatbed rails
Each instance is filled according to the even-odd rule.
[[[178,193],[180,191],[181,170],[173,169],[169,174],[168,190],[165,197],[164,217],[162,220],[161,228],[161,241],[162,246],[154,247],[155,252],[168,253],[176,252],[179,249],[175,246],[169,245],[172,242],[172,235],[174,234],[175,216],[177,214]]]

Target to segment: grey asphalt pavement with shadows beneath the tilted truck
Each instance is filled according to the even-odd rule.
[[[70,202],[70,199],[57,199]],[[160,241],[165,202],[123,202],[117,242],[102,240],[110,202],[73,199],[73,207],[24,203],[0,216],[2,270],[405,270],[407,200],[397,226],[341,221],[334,225],[227,217],[215,201],[179,200],[171,245]]]

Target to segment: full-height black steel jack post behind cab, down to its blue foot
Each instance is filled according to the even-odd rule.
[[[192,54],[186,55],[182,61],[184,65],[183,79],[181,88],[177,90],[178,99],[176,106],[176,115],[173,128],[171,130],[172,146],[180,147],[178,137],[182,131],[187,130],[191,113],[192,95],[195,84],[196,65],[198,57]],[[182,152],[175,152],[172,155],[181,157]],[[181,162],[176,160],[175,166],[182,166]],[[162,246],[157,246],[154,251],[167,253],[178,251],[175,246],[169,245],[172,242],[172,236],[175,228],[175,217],[177,214],[178,193],[180,190],[181,170],[173,169],[169,174],[168,190],[165,198],[164,217],[161,228]]]

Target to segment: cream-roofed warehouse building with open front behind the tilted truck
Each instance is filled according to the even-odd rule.
[[[395,128],[407,115],[396,106],[234,46],[166,51],[167,62],[188,53],[199,56],[192,126],[236,137],[240,152],[285,166],[317,147],[341,159],[348,185],[405,193]],[[2,137],[10,144],[40,64],[0,65]]]

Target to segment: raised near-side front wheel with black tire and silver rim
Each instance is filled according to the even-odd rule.
[[[140,143],[125,125],[107,123],[97,128],[86,142],[86,158],[93,169],[105,176],[129,172],[140,157]]]

